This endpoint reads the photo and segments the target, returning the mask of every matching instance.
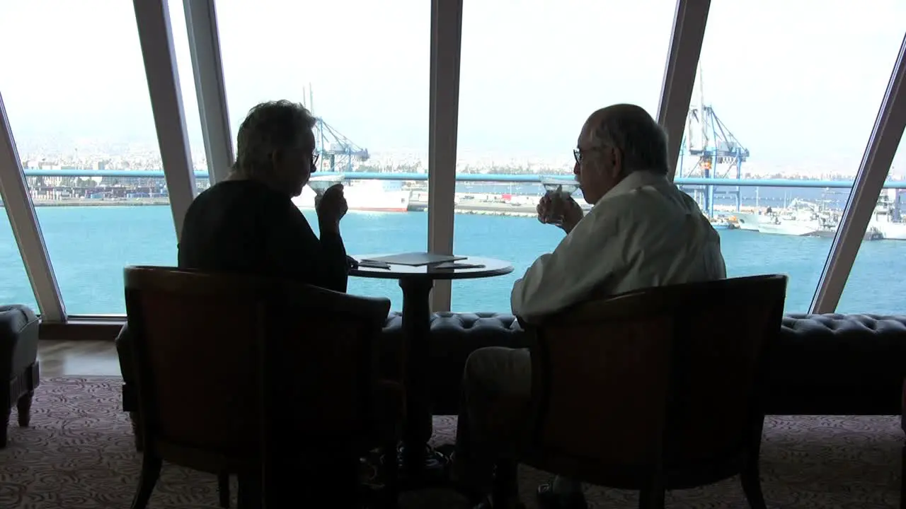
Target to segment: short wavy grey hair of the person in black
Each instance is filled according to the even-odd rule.
[[[245,175],[270,171],[274,151],[298,146],[315,121],[311,111],[297,102],[258,104],[248,111],[246,120],[239,126],[233,171]]]

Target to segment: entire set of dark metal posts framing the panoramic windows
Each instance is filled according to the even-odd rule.
[[[142,58],[149,84],[173,224],[179,235],[182,218],[195,197],[195,172],[188,146],[167,2],[133,0]],[[679,158],[689,101],[708,22],[708,0],[678,0],[661,87],[658,120],[670,139],[671,160]],[[234,149],[226,106],[226,88],[217,29],[215,0],[184,2],[193,78],[211,184],[226,177]],[[455,221],[459,68],[463,0],[431,0],[429,103],[429,251],[452,254]],[[853,261],[868,226],[876,197],[892,164],[906,127],[906,37],[892,70],[872,136],[843,221],[834,237],[824,273],[815,288],[811,312],[833,312],[843,293]],[[32,283],[34,296],[54,339],[80,339],[84,331],[114,331],[122,315],[67,316],[63,298],[34,212],[13,132],[0,95],[0,193]],[[675,168],[671,168],[673,178]],[[439,282],[432,311],[448,311],[450,284]],[[505,311],[505,310],[501,310]],[[72,331],[68,334],[67,330]],[[80,332],[81,331],[81,332]],[[49,332],[51,333],[51,332]],[[94,338],[98,339],[98,338]]]

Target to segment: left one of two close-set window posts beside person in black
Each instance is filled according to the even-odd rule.
[[[182,220],[195,198],[195,171],[188,145],[186,119],[182,108],[182,91],[173,34],[170,29],[166,0],[147,2],[133,0],[139,28],[141,56],[145,62],[148,91],[154,125],[158,134],[160,160],[167,180],[170,209],[177,239],[182,233]]]

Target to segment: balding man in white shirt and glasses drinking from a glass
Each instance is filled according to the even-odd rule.
[[[573,154],[573,173],[592,210],[583,216],[563,194],[542,198],[538,219],[566,236],[516,281],[514,314],[537,322],[592,295],[726,277],[720,237],[667,178],[667,137],[645,110],[618,104],[595,111]],[[453,475],[479,506],[489,504],[493,456],[506,455],[500,437],[525,420],[530,371],[525,349],[480,349],[467,360]],[[561,477],[539,486],[538,496],[547,508],[586,506],[581,484]]]

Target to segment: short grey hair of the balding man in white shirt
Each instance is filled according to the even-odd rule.
[[[601,113],[600,122],[592,130],[593,146],[620,149],[626,173],[668,173],[667,133],[648,111],[634,104],[615,104]]]

